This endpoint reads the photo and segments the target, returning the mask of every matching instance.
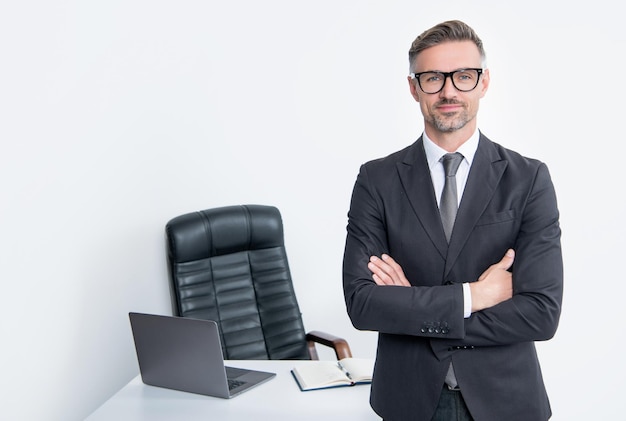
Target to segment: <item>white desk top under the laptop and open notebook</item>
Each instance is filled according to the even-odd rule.
[[[147,386],[137,376],[91,414],[99,420],[355,420],[380,421],[369,405],[369,385],[301,392],[290,370],[308,361],[227,361],[276,377],[232,399]]]

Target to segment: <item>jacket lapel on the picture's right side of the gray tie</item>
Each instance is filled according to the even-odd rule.
[[[493,142],[481,134],[454,223],[445,275],[454,265],[478,219],[491,201],[507,165],[507,161],[502,160]]]

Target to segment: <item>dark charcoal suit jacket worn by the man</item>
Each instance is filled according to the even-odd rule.
[[[481,134],[446,242],[422,139],[364,164],[348,214],[344,292],[357,329],[379,332],[371,405],[386,421],[430,421],[450,361],[477,421],[551,415],[534,341],[557,329],[563,294],[559,212],[545,164]],[[513,298],[463,318],[463,282],[515,249]],[[377,286],[391,255],[411,288]]]

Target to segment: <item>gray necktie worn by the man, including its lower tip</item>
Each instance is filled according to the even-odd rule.
[[[456,193],[456,171],[459,169],[462,160],[463,155],[458,152],[448,153],[441,157],[446,180],[443,185],[443,191],[441,192],[439,213],[441,213],[441,222],[443,223],[443,230],[446,233],[446,240],[448,240],[448,242],[450,242],[452,227],[454,227],[454,220],[456,219],[456,211],[459,207]],[[448,367],[445,382],[448,387],[452,389],[458,386],[452,362],[450,362],[450,366]]]

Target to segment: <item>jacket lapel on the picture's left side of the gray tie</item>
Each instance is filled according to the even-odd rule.
[[[435,199],[435,190],[430,178],[430,170],[421,137],[412,148],[409,148],[405,158],[398,162],[397,167],[413,211],[441,256],[445,258],[448,244],[443,232],[441,216],[439,216],[437,200]]]

